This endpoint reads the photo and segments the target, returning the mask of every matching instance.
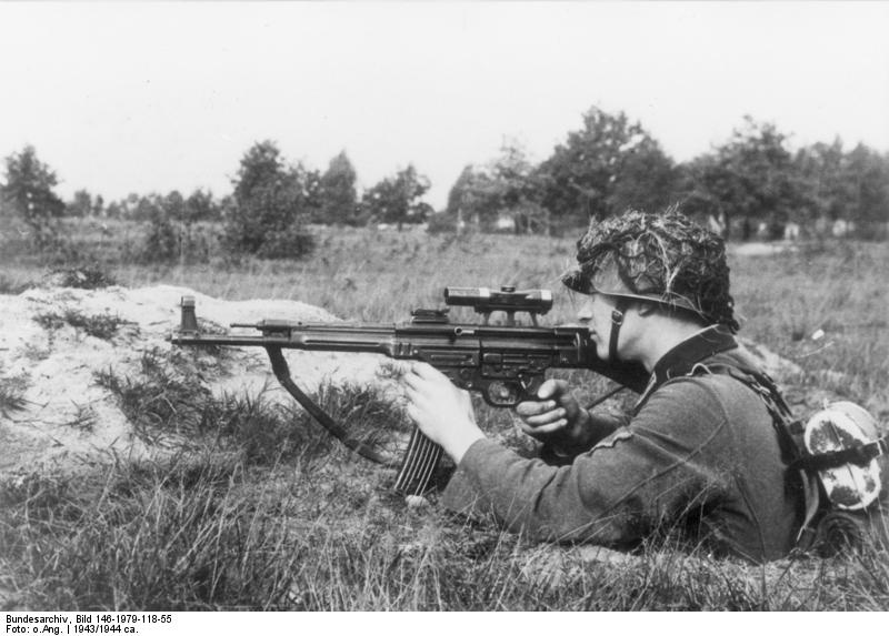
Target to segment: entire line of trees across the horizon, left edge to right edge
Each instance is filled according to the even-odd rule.
[[[232,191],[221,199],[130,194],[106,202],[86,190],[68,202],[58,179],[26,147],[6,159],[0,219],[23,223],[30,241],[59,241],[62,216],[127,219],[147,223],[146,253],[170,260],[190,250],[202,222],[221,223],[219,240],[236,253],[298,258],[311,251],[312,223],[362,226],[428,221],[430,231],[481,230],[561,233],[628,208],[678,205],[726,238],[780,238],[788,225],[823,231],[842,221],[863,238],[885,238],[889,222],[889,154],[841,140],[796,152],[773,124],[746,118],[730,138],[677,163],[638,121],[591,108],[550,157],[532,162],[518,143],[505,143],[485,165],[467,165],[444,210],[422,201],[429,180],[413,165],[363,191],[346,151],[321,172],[290,163],[273,141],[254,143],[241,158]],[[204,239],[206,241],[206,239]]]

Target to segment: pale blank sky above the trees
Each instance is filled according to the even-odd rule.
[[[889,152],[887,2],[0,2],[0,157],[87,189],[231,191],[277,142],[370,188],[412,163],[447,201],[505,141],[542,161],[591,107],[677,161],[745,114],[790,147]]]

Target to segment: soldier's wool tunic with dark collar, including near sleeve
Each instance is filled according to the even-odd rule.
[[[795,545],[802,493],[786,478],[761,397],[711,372],[753,364],[728,332],[705,330],[658,362],[626,426],[568,465],[479,440],[443,503],[463,514],[492,513],[546,541],[629,547],[678,528],[719,553],[779,558]]]

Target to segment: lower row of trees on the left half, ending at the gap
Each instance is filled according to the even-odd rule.
[[[23,225],[18,233],[41,251],[59,251],[64,216],[122,219],[148,225],[140,255],[152,261],[184,260],[186,254],[209,253],[201,223],[222,225],[218,241],[234,254],[266,259],[299,258],[311,251],[308,225],[363,226],[422,223],[433,212],[422,201],[430,182],[409,164],[366,190],[357,191],[357,173],[346,151],[331,159],[324,172],[301,162],[286,161],[273,141],[254,143],[241,158],[232,192],[217,199],[194,190],[167,194],[129,194],[106,202],[87,190],[63,202],[54,189],[58,178],[41,162],[33,147],[6,159],[0,182],[0,225]],[[0,228],[2,240],[3,228]],[[7,228],[6,233],[11,233]]]

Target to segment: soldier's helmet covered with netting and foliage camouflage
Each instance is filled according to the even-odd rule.
[[[593,221],[577,248],[578,265],[562,276],[570,289],[607,293],[593,280],[616,270],[630,294],[691,310],[708,324],[738,331],[726,244],[683,214],[630,211]]]

